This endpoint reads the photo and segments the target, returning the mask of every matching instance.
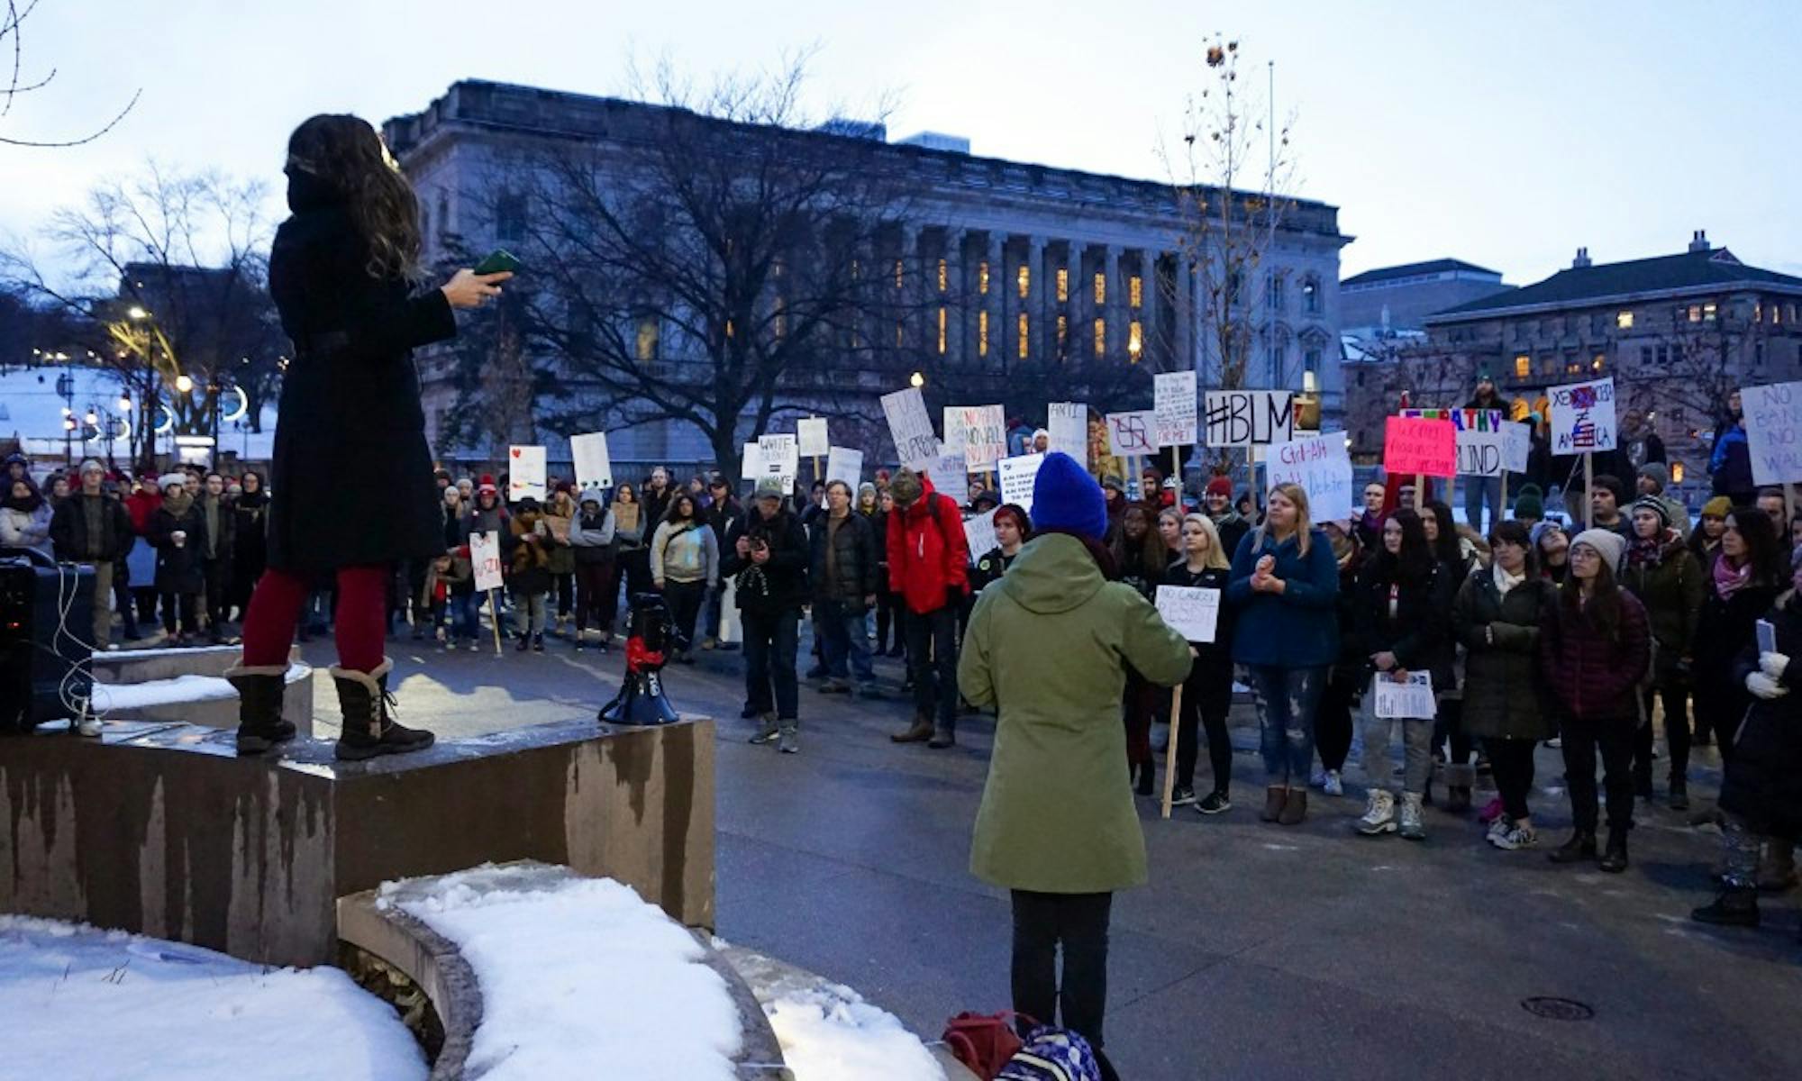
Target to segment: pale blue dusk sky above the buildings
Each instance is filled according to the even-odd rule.
[[[283,142],[310,114],[380,123],[463,77],[620,94],[634,50],[705,81],[816,45],[816,115],[869,112],[887,94],[892,135],[948,132],[980,155],[1168,178],[1159,135],[1177,133],[1218,29],[1242,41],[1260,92],[1276,61],[1297,195],[1341,207],[1357,238],[1346,276],[1456,256],[1526,283],[1579,245],[1598,263],[1669,254],[1694,229],[1802,274],[1798,14],[1780,0],[41,0],[23,81],[58,77],[14,101],[0,135],[77,135],[144,94],[90,146],[0,146],[0,236],[34,232],[96,175],[146,155],[261,177],[279,198]]]

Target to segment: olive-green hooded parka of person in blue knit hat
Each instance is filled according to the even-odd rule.
[[[1126,667],[1175,686],[1189,643],[1074,537],[1047,533],[982,591],[957,685],[998,706],[969,870],[1009,890],[1105,894],[1144,885],[1126,775]]]

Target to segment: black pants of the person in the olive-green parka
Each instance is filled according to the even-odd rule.
[[[1108,1005],[1108,913],[1114,894],[1013,892],[1015,1013],[1063,1025],[1101,1047]],[[1063,980],[1058,980],[1058,948]],[[1061,1020],[1058,1009],[1063,1009]],[[1022,1032],[1024,1034],[1024,1032]]]

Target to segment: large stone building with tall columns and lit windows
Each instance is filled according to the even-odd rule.
[[[519,160],[533,146],[571,142],[596,150],[604,162],[611,142],[651,137],[665,112],[609,97],[460,81],[423,112],[387,121],[386,139],[420,195],[425,261],[452,245],[467,252],[506,247],[530,229],[528,204],[492,191],[494,178],[506,173],[497,162]],[[1202,322],[1202,276],[1186,252],[1184,220],[1169,184],[984,159],[971,155],[968,142],[937,133],[890,142],[879,124],[769,130],[769,139],[789,137],[860,141],[860,151],[872,141],[879,146],[883,168],[910,189],[905,216],[885,223],[879,265],[894,259],[897,285],[899,267],[919,268],[919,304],[897,321],[888,362],[847,364],[822,386],[791,387],[791,398],[831,398],[840,411],[854,398],[879,418],[876,398],[905,386],[908,371],[921,373],[928,387],[939,373],[953,371],[964,377],[962,386],[980,386],[986,375],[1006,384],[1009,368],[1020,362],[1078,359],[1119,366],[1123,386],[1139,369],[1144,389],[1135,395],[1142,400],[1112,407],[1151,405],[1146,369],[1195,368],[1200,384],[1213,386],[1215,335]],[[1242,319],[1251,328],[1247,382],[1314,387],[1326,427],[1337,427],[1342,409],[1337,283],[1339,249],[1348,240],[1339,232],[1335,207],[1296,200],[1274,231],[1258,270],[1261,281],[1242,290]],[[633,337],[647,364],[679,364],[672,328],[652,322],[634,328]],[[434,445],[452,458],[494,456],[492,447],[447,450],[436,438],[458,398],[450,364],[440,353],[422,355],[422,382]],[[1043,404],[1036,416],[1024,407],[1020,418],[1042,423]],[[782,422],[777,429],[786,431]],[[872,423],[872,434],[861,440],[870,461],[892,454],[879,429],[879,422]],[[548,432],[530,438],[550,443],[553,461],[566,454]],[[679,420],[633,423],[613,431],[609,443],[614,459],[625,463],[714,458],[706,440]]]

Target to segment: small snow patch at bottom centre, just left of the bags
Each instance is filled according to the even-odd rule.
[[[764,1013],[795,1081],[944,1081],[919,1036],[842,984],[787,991]]]

